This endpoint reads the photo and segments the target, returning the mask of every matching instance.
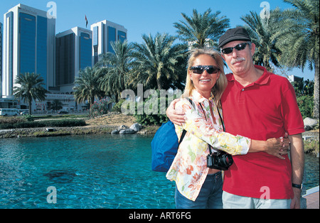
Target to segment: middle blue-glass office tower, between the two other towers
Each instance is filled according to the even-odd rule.
[[[92,31],[75,27],[55,38],[55,86],[60,92],[73,92],[75,77],[92,67]]]

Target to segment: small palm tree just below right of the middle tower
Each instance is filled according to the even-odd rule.
[[[103,97],[104,93],[99,88],[100,78],[97,67],[86,67],[85,70],[80,70],[73,87],[75,101],[80,103],[87,100],[91,106],[95,102],[95,97]]]

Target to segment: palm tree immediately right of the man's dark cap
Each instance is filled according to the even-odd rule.
[[[272,39],[272,33],[274,32],[272,28],[274,24],[272,11],[270,15],[270,18],[261,18],[256,12],[250,11],[250,14],[242,16],[241,19],[247,23],[245,28],[250,33],[252,43],[256,45],[255,55],[253,56],[255,65],[262,65],[270,72],[273,72],[270,62],[279,67],[277,59],[280,50],[275,45],[276,41]]]

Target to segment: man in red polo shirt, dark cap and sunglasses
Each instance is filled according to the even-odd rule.
[[[299,208],[304,173],[304,124],[289,81],[253,65],[255,44],[244,28],[229,29],[219,40],[221,55],[233,72],[221,103],[225,131],[257,140],[287,132],[290,160],[267,153],[234,156],[225,171],[224,208]],[[171,112],[170,112],[171,111]],[[167,114],[172,116],[172,108]],[[177,121],[176,121],[176,124]]]

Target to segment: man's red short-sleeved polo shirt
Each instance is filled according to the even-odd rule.
[[[233,74],[227,75],[228,87],[221,98],[225,131],[257,140],[304,132],[294,88],[287,78],[255,67],[264,73],[246,87]],[[233,156],[223,190],[245,197],[292,198],[292,167],[288,156],[284,157],[280,160],[263,152]]]

